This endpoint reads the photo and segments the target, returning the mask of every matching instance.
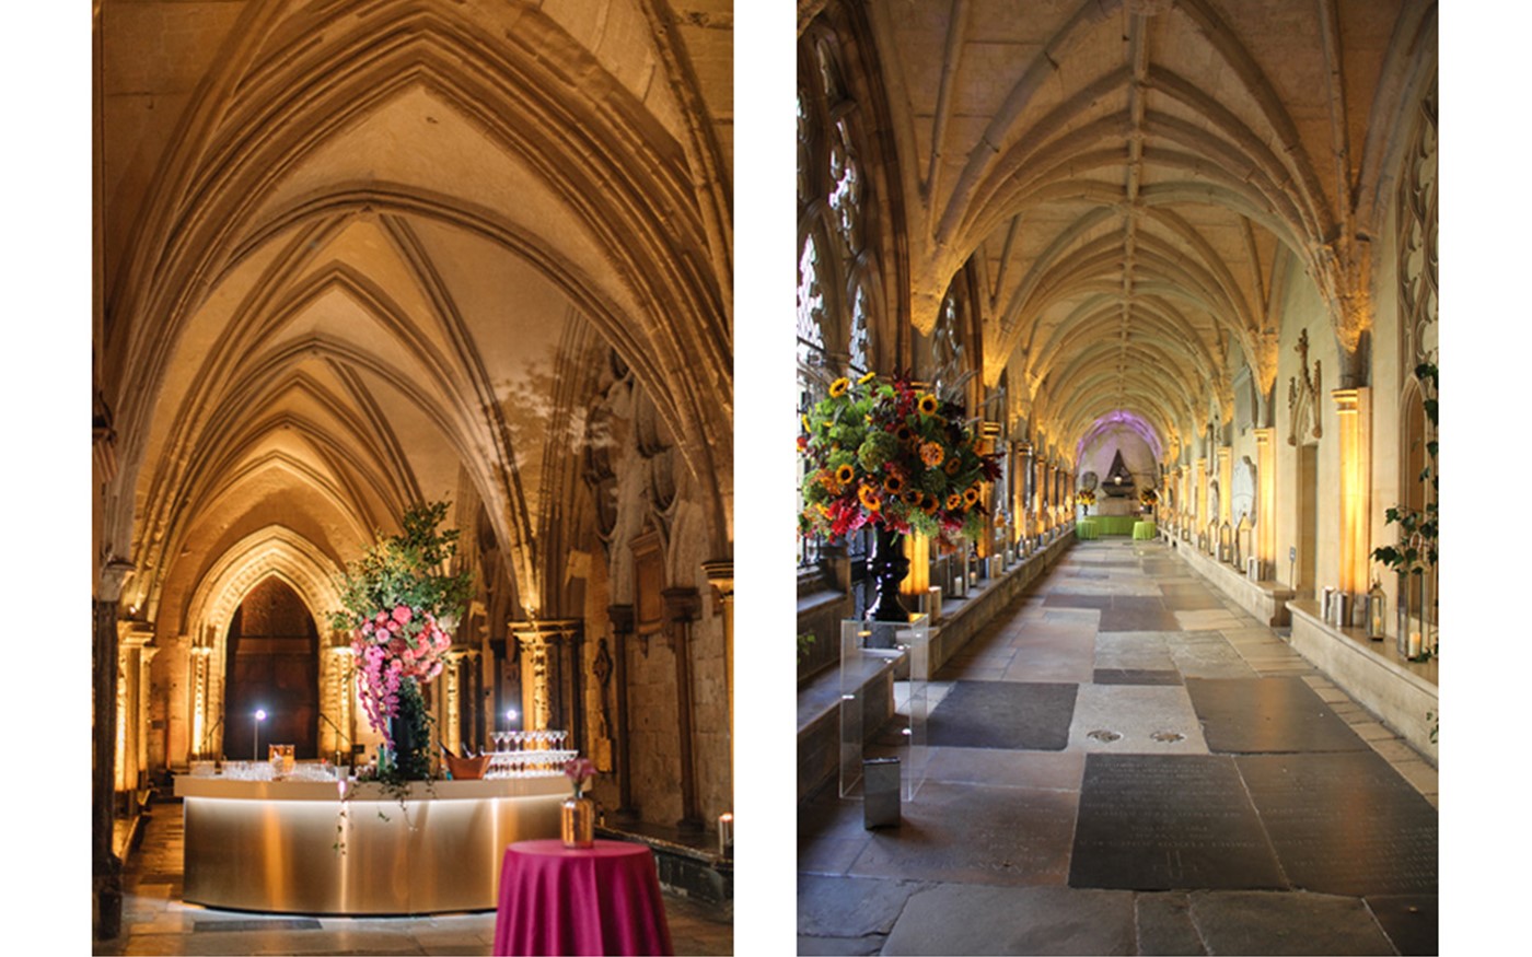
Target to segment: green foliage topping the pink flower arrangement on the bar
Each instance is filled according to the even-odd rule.
[[[449,574],[458,550],[457,528],[438,530],[449,502],[426,502],[404,511],[401,534],[385,539],[346,567],[337,582],[345,611],[331,612],[331,626],[351,631],[378,611],[408,605],[437,619],[460,617],[472,597],[473,576]]]

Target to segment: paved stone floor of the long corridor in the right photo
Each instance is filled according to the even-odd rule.
[[[1164,544],[1075,545],[927,707],[898,827],[800,807],[801,954],[1439,952],[1435,769]]]

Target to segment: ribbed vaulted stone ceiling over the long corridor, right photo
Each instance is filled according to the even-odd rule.
[[[800,3],[800,26],[824,3]],[[1270,401],[1278,297],[1307,273],[1348,363],[1391,171],[1435,69],[1435,5],[866,3],[898,155],[912,322],[958,271],[984,375],[1074,447],[1114,412],[1163,447]],[[1342,377],[1353,369],[1342,369]],[[1265,403],[1262,403],[1265,404]]]

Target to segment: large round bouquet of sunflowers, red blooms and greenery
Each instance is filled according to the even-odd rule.
[[[1000,475],[964,409],[908,377],[836,378],[803,416],[800,533],[838,542],[866,525],[919,531],[942,548],[985,527],[980,485]]]

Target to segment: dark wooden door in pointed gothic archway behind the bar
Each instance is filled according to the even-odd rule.
[[[228,625],[224,753],[262,758],[267,744],[319,756],[319,629],[303,599],[271,576],[250,590]],[[265,710],[256,743],[254,714]]]

